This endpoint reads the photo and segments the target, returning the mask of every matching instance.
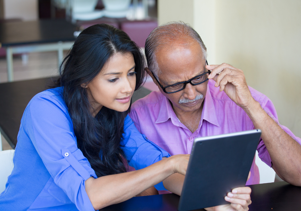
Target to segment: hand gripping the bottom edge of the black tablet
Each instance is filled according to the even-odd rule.
[[[251,201],[251,188],[250,187],[237,187],[225,196],[225,200],[231,204],[214,206],[205,208],[207,211],[246,211],[249,210]]]

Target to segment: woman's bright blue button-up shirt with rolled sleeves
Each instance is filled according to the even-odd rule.
[[[97,176],[77,148],[62,90],[43,91],[27,105],[17,137],[14,169],[0,194],[0,210],[94,210],[85,180]],[[135,169],[170,156],[140,134],[129,116],[123,137],[126,160]],[[156,188],[165,189],[162,182]]]

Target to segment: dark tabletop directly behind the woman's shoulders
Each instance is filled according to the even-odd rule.
[[[23,112],[29,101],[37,93],[46,89],[50,78],[0,83],[0,132],[14,148]],[[135,91],[132,102],[151,93],[141,88]]]

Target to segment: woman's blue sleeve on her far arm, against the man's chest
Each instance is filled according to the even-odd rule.
[[[124,121],[124,134],[121,145],[127,162],[136,170],[158,162],[163,157],[170,157],[168,152],[151,142],[137,130],[129,115],[126,116]],[[155,185],[155,187],[160,191],[166,190],[162,182]]]

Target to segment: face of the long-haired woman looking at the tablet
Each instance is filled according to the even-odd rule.
[[[129,109],[136,86],[135,61],[132,53],[115,54],[100,73],[87,85],[95,116],[105,106],[119,112]]]

